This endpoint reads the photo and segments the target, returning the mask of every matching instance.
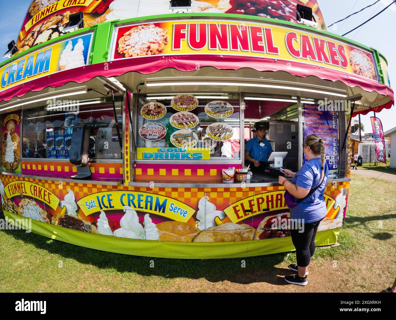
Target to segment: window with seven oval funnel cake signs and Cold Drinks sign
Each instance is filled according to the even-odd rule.
[[[239,95],[139,95],[136,136],[137,160],[240,160]]]

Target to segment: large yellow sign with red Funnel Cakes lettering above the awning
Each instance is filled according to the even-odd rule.
[[[285,71],[290,66],[282,61],[299,62],[378,81],[370,51],[290,26],[251,21],[194,19],[116,27],[110,60],[208,54],[273,58]]]

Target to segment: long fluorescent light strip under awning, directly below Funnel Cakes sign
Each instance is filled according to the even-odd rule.
[[[193,82],[155,82],[155,83],[146,83],[147,87],[157,87],[157,86],[186,86],[186,85],[208,85],[208,86],[239,86],[239,87],[259,87],[259,88],[274,88],[274,89],[285,89],[285,90],[299,90],[305,92],[314,92],[314,93],[323,93],[329,94],[331,96],[337,97],[346,97],[346,94],[334,93],[329,91],[308,89],[308,88],[299,88],[299,87],[286,87],[286,86],[277,86],[277,85],[264,85],[264,84],[255,84],[255,83],[240,83],[240,82],[209,82],[209,81],[193,81]]]

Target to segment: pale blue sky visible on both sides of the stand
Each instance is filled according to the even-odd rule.
[[[327,25],[374,2],[375,0],[319,0]],[[378,4],[348,18],[345,22],[331,26],[329,31],[342,35],[384,9],[391,2],[392,0],[382,0]],[[0,4],[2,8],[0,11],[0,51],[2,50],[1,52],[5,53],[7,44],[17,39],[22,21],[30,5],[30,0],[0,0]],[[379,16],[346,35],[346,37],[368,47],[373,47],[386,57],[391,86],[396,88],[396,4],[392,4]],[[2,61],[1,57],[0,61]],[[391,109],[383,109],[376,115],[381,119],[384,131],[396,126],[396,106]],[[373,112],[361,116],[366,133],[372,132],[370,122],[370,117],[372,116]]]

